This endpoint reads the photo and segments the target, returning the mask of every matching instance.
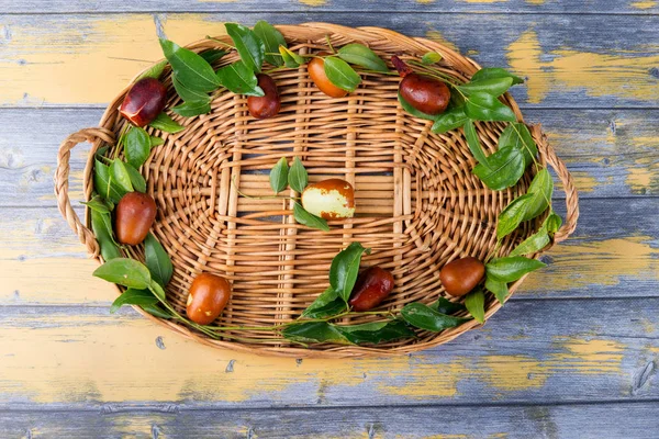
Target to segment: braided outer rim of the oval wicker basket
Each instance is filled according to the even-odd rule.
[[[424,52],[428,52],[428,48],[431,48],[432,50],[439,52],[444,56],[445,59],[456,58],[456,59],[460,59],[460,60],[467,63],[467,65],[470,66],[470,68],[472,70],[472,71],[465,72],[468,76],[471,76],[478,69],[480,69],[480,65],[478,63],[476,63],[474,60],[472,60],[471,58],[469,58],[467,56],[463,56],[463,55],[453,50],[451,48],[445,46],[444,44],[442,44],[439,42],[434,42],[434,41],[431,41],[425,37],[406,36],[406,35],[403,35],[398,32],[394,32],[394,31],[391,31],[388,29],[383,29],[383,27],[362,26],[362,27],[353,29],[353,27],[347,27],[347,26],[332,24],[332,23],[317,23],[317,22],[309,22],[309,23],[302,23],[302,24],[298,24],[298,25],[276,25],[276,27],[279,29],[280,31],[282,31],[282,33],[284,33],[284,36],[287,36],[287,33],[294,32],[298,29],[304,29],[304,30],[313,29],[315,32],[317,32],[319,30],[323,30],[324,31],[323,33],[338,33],[338,34],[360,32],[360,33],[367,33],[367,34],[376,34],[376,36],[378,38],[382,38],[383,35],[388,35],[389,37],[399,38],[402,41],[413,42],[414,44],[418,44],[418,46],[420,46],[418,48],[423,49]],[[330,31],[332,31],[332,32],[330,32]],[[376,38],[376,36],[373,36],[373,38]],[[287,36],[287,40],[289,40],[288,36]],[[360,38],[355,38],[355,40],[362,41]],[[208,38],[202,38],[202,40],[192,42],[192,43],[186,45],[185,47],[194,49],[194,48],[199,48],[199,46],[201,46],[203,44],[208,44],[208,42],[209,42]],[[415,50],[414,54],[420,55],[420,50]],[[142,70],[141,72],[138,72],[135,77],[139,76],[142,72],[144,72],[147,69],[148,69],[148,67],[145,68],[144,70]],[[103,115],[101,116],[101,120],[99,122],[99,126],[103,127],[101,130],[107,130],[110,133],[112,133],[112,131],[111,131],[111,128],[113,126],[112,114],[114,114],[116,112],[116,108],[118,108],[116,103],[121,102],[121,100],[123,100],[123,97],[130,90],[133,80],[131,80],[131,82],[116,95],[116,98],[112,101],[111,104],[108,105],[108,108],[103,112]],[[518,122],[524,123],[524,119],[520,111],[520,108],[518,108],[517,103],[515,102],[515,100],[512,98],[512,95],[510,95],[509,93],[505,93],[504,100],[514,111],[515,115],[517,116]],[[108,128],[108,126],[110,128]],[[556,154],[554,153],[552,148],[547,144],[546,136],[541,133],[539,125],[535,125],[532,127],[532,135],[533,135],[534,139],[536,140],[536,143],[538,143],[538,146],[540,146],[541,144],[545,145],[545,148],[538,148],[538,149],[540,149],[540,159],[543,161],[548,162],[555,169],[557,169],[557,173],[559,173],[559,177],[561,177],[561,176],[565,177],[565,178],[561,178],[563,185],[565,185],[566,181],[570,182],[571,176],[569,175],[569,172],[565,168],[565,165],[562,165],[562,162],[560,161],[560,159],[558,159],[558,157],[556,157]],[[86,199],[90,198],[91,190],[93,187],[92,183],[90,184],[90,182],[92,181],[93,154],[101,146],[102,143],[107,143],[107,138],[101,138],[100,136],[97,137],[97,139],[92,143],[93,146],[89,153],[89,158],[87,160],[87,165],[86,165],[85,172],[83,172]],[[543,154],[543,153],[546,153],[546,154]],[[561,168],[561,166],[562,166],[562,168]],[[561,168],[561,169],[558,169],[558,168]],[[68,182],[67,182],[67,187],[68,187]],[[56,187],[56,192],[57,192],[57,187]],[[548,250],[555,243],[563,240],[565,238],[567,238],[567,236],[569,236],[573,232],[573,227],[576,225],[576,217],[578,216],[578,204],[577,204],[577,192],[573,190],[573,188],[572,188],[571,192],[573,194],[573,200],[574,200],[574,202],[572,203],[574,205],[573,211],[576,212],[576,215],[572,215],[573,221],[570,222],[569,227],[567,224],[563,226],[562,235],[559,235],[557,233],[557,235],[555,236],[555,239],[545,249],[543,249],[540,252],[535,255],[536,259],[539,258],[539,256],[544,251]],[[59,200],[59,193],[58,193],[58,200]],[[570,203],[568,203],[568,206],[569,206],[569,204]],[[60,210],[62,210],[62,205],[60,205]],[[568,211],[570,211],[570,210],[568,210]],[[63,213],[64,213],[64,210],[63,210]],[[67,216],[67,219],[68,219],[68,212],[67,212],[67,214],[65,214],[65,216]],[[566,222],[566,223],[568,223],[568,222]],[[69,224],[70,224],[70,221],[69,221]],[[85,224],[88,227],[90,225],[89,207],[85,209]],[[76,232],[78,232],[78,234],[80,235],[79,230],[76,230]],[[89,230],[87,230],[87,232],[89,232]],[[87,238],[89,239],[89,237],[87,237]],[[82,240],[82,238],[81,238],[81,240]],[[91,235],[91,240],[93,240],[96,244],[96,239],[94,239],[93,235]],[[89,244],[88,244],[88,249],[90,249],[90,252],[94,254],[96,259],[99,261],[99,263],[102,263],[102,258],[98,254],[98,245],[97,245],[96,251],[92,248],[90,248]],[[526,275],[524,275],[523,278],[521,278],[520,280],[517,280],[511,284],[511,286],[510,286],[511,294],[509,295],[507,299],[510,299],[512,296],[512,294],[514,294],[514,292],[518,289],[518,286],[525,280],[525,278],[526,278]],[[122,292],[122,290],[119,286],[115,285],[115,288],[116,288],[118,293]],[[498,301],[494,301],[494,303],[492,303],[487,309],[485,322],[494,313],[496,313],[501,308],[501,306],[502,305]],[[442,345],[444,342],[455,339],[456,337],[458,337],[459,335],[461,335],[468,330],[476,329],[476,328],[483,326],[476,320],[470,320],[458,327],[438,333],[435,336],[433,336],[432,338],[427,338],[422,342],[406,345],[406,346],[404,346],[404,349],[399,349],[399,348],[388,349],[388,348],[367,347],[367,346],[347,346],[347,347],[340,346],[340,347],[336,347],[336,348],[332,348],[332,349],[324,349],[324,350],[314,349],[313,346],[310,348],[275,347],[275,346],[268,346],[268,345],[264,345],[263,347],[261,346],[255,347],[254,345],[244,345],[244,344],[237,342],[237,341],[210,339],[210,338],[206,338],[205,336],[194,333],[193,330],[189,329],[188,327],[180,326],[170,320],[155,317],[155,316],[144,312],[138,306],[133,306],[133,307],[139,314],[142,314],[146,318],[150,319],[152,322],[155,322],[155,323],[161,325],[163,327],[166,327],[186,338],[198,341],[204,346],[209,346],[209,347],[213,347],[213,348],[228,348],[232,350],[243,351],[243,352],[269,354],[269,356],[278,356],[278,357],[290,357],[290,358],[355,358],[355,357],[365,357],[365,356],[368,356],[368,357],[400,356],[400,354],[405,354],[405,353],[410,353],[413,351],[418,351],[418,350],[423,350],[423,349],[427,349],[427,348],[431,348],[434,346]]]

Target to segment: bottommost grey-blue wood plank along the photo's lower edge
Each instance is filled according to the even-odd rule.
[[[657,403],[277,410],[4,412],[0,435],[48,438],[648,438]]]

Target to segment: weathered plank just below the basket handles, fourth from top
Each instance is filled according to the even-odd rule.
[[[107,306],[114,300],[114,289],[91,277],[97,262],[86,258],[56,209],[2,212],[0,305]],[[549,266],[529,275],[513,301],[659,295],[656,199],[583,200],[579,224],[543,257]]]

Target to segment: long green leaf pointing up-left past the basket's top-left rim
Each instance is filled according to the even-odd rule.
[[[169,40],[160,40],[163,53],[178,80],[187,88],[209,92],[220,87],[211,65],[194,52],[180,47]]]

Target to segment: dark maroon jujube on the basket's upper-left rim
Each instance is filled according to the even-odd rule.
[[[155,78],[144,78],[133,85],[121,104],[120,113],[135,126],[149,124],[167,103],[167,88]]]

